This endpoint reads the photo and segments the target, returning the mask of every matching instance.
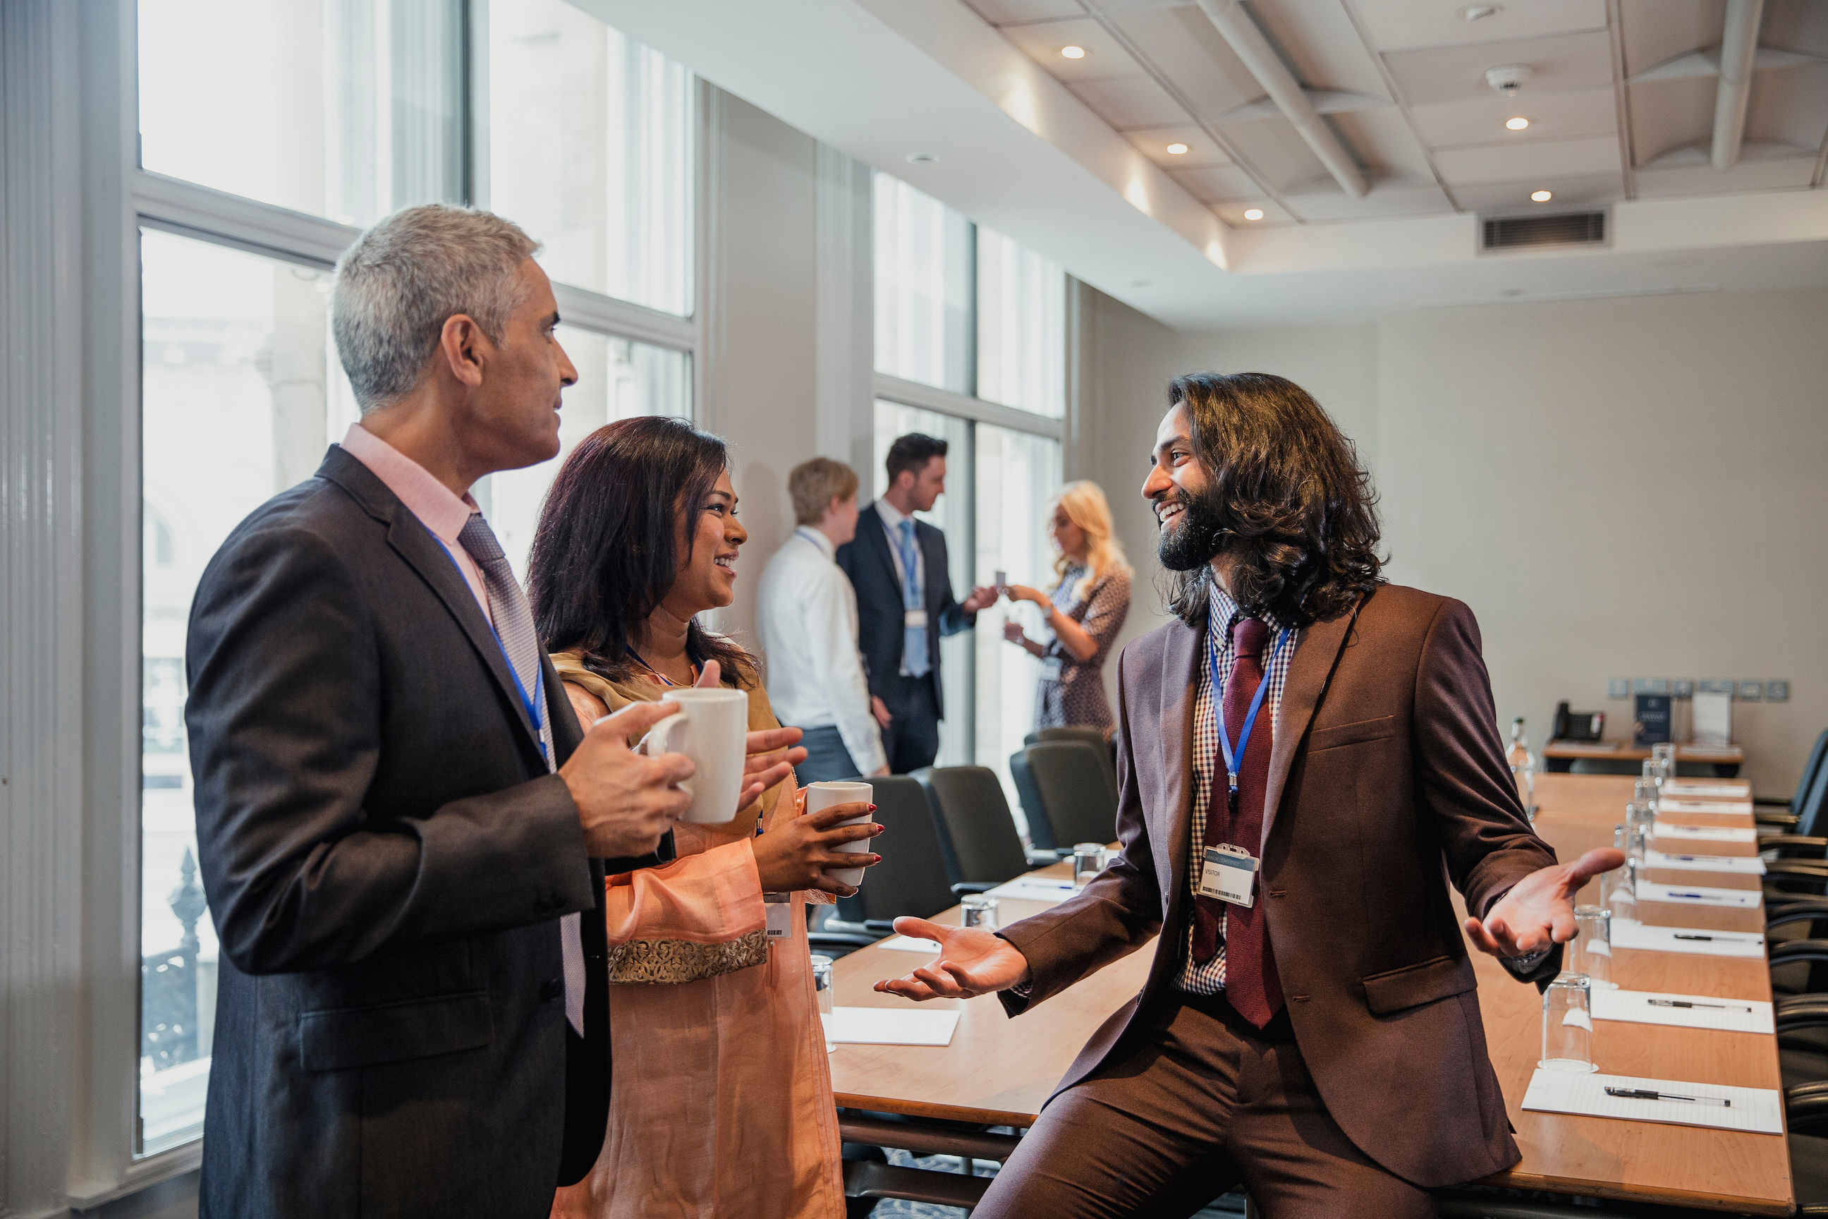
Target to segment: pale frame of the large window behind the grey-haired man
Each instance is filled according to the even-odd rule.
[[[486,0],[466,4],[462,181],[486,207]],[[141,1047],[141,704],[143,704],[143,387],[139,230],[154,228],[296,265],[331,269],[360,228],[141,168],[137,0],[84,5],[80,115],[84,322],[102,353],[86,380],[84,541],[84,969],[88,1078],[79,1082],[73,1206],[90,1208],[201,1162],[201,1131],[154,1153],[139,1131]],[[691,360],[691,417],[711,400],[717,276],[717,139],[722,95],[695,77],[693,313],[676,316],[554,283],[569,327],[634,340]],[[80,1148],[80,1150],[79,1150]]]

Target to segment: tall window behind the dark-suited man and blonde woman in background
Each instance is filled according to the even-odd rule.
[[[952,592],[1053,585],[1046,512],[1062,479],[1066,272],[938,199],[876,175],[876,470],[898,435],[951,442],[945,495]],[[1013,408],[1013,409],[1011,409]],[[1016,808],[1009,755],[1035,727],[1038,663],[1004,621],[1047,638],[1031,605],[998,601],[941,643],[940,764],[993,768]],[[1020,817],[1020,811],[1016,813]]]

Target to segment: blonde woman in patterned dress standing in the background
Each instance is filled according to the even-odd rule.
[[[1097,482],[1068,482],[1053,501],[1047,537],[1055,548],[1055,583],[1042,592],[1009,585],[1011,601],[1033,601],[1046,614],[1053,640],[1038,643],[1022,623],[1004,623],[1004,638],[1040,658],[1035,685],[1035,727],[1084,724],[1115,727],[1104,696],[1104,658],[1130,614],[1130,565],[1111,528],[1111,506]]]

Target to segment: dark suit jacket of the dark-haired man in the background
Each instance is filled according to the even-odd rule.
[[[952,568],[947,567],[945,534],[914,521],[914,545],[927,567],[927,656],[932,660],[934,704],[945,716],[945,693],[940,682],[940,636],[971,631],[978,620],[952,599]],[[901,673],[901,645],[905,641],[901,614],[901,578],[896,576],[894,556],[888,554],[888,526],[876,504],[857,514],[857,535],[837,548],[837,565],[850,576],[857,590],[857,647],[870,673],[870,693],[887,696]]]

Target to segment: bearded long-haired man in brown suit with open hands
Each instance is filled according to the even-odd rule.
[[[1466,938],[1554,978],[1572,894],[1504,766],[1479,627],[1384,583],[1371,479],[1300,386],[1170,386],[1142,495],[1175,620],[1119,662],[1117,832],[1086,890],[1000,936],[898,919],[941,959],[877,989],[1020,1014],[1157,932],[980,1219],[1433,1214],[1517,1162]]]

